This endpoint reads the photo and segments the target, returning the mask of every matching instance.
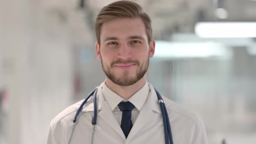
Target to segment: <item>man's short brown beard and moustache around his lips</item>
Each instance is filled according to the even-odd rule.
[[[102,58],[102,57],[101,57]],[[140,79],[143,78],[145,73],[148,71],[148,65],[149,65],[149,56],[143,63],[140,63],[138,60],[121,60],[118,59],[115,62],[112,62],[110,66],[104,64],[103,59],[101,60],[102,63],[102,69],[105,73],[105,75],[110,79],[113,83],[120,86],[129,86],[133,85],[136,82],[138,82]],[[127,64],[127,63],[135,63],[138,65],[138,69],[136,70],[135,76],[131,77],[128,75],[128,72],[124,72],[124,74],[121,77],[117,77],[112,69],[114,69],[116,64]]]

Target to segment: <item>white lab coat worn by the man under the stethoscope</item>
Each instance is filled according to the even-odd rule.
[[[97,93],[98,115],[93,144],[165,144],[161,108],[151,84],[149,88],[151,91],[148,99],[126,139],[102,95],[102,85],[100,85]],[[82,101],[69,106],[52,120],[46,144],[69,144],[70,137],[70,144],[92,143],[93,98],[89,99],[77,122],[73,123],[75,113]],[[164,101],[169,114],[174,144],[207,144],[201,119],[167,98],[164,98]]]

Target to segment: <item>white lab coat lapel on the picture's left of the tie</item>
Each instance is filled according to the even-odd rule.
[[[116,120],[111,108],[108,106],[107,102],[103,97],[102,89],[101,91],[99,91],[99,94],[97,96],[99,97],[98,108],[101,109],[101,111],[98,113],[98,116],[101,117],[102,121],[105,121],[106,124],[113,128],[123,139],[126,139],[125,134],[123,133],[120,125],[118,124],[118,121]]]

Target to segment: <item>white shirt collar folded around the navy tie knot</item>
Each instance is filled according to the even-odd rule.
[[[107,102],[108,106],[111,108],[112,111],[121,101],[126,101],[124,98],[109,89],[105,82],[102,86],[102,93],[105,101]],[[130,101],[138,109],[138,111],[140,111],[148,98],[148,94],[149,86],[148,82],[146,82],[145,85],[138,92],[132,95],[131,98],[129,98],[127,101]]]

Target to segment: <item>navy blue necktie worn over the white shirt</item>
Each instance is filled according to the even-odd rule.
[[[129,132],[132,128],[131,123],[131,110],[134,108],[131,102],[120,102],[118,104],[120,111],[123,112],[122,114],[122,121],[121,121],[121,129],[123,130],[125,137],[128,137]]]

